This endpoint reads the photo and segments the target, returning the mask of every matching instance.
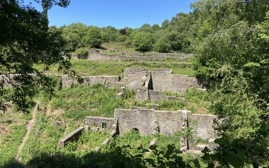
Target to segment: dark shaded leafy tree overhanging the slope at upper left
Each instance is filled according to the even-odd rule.
[[[29,102],[38,88],[51,91],[51,80],[34,65],[42,64],[43,70],[58,64],[67,72],[71,66],[64,55],[64,40],[55,27],[48,28],[43,15],[20,1],[0,2],[0,108],[17,104],[27,112]],[[11,78],[10,74],[15,74]]]

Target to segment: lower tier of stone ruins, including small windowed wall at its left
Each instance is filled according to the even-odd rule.
[[[130,130],[138,130],[141,135],[164,134],[170,136],[190,127],[196,139],[212,141],[216,139],[214,121],[217,116],[210,114],[193,114],[188,110],[156,111],[153,109],[115,109],[114,118],[99,118],[88,116],[85,125],[99,127],[100,130],[111,130],[117,121],[117,134],[125,134]],[[179,139],[180,141],[180,139]],[[181,146],[186,150],[202,150],[194,139],[181,140]]]

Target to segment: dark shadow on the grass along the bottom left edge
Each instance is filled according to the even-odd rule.
[[[1,166],[0,166],[1,167]],[[142,167],[139,162],[132,160],[125,155],[122,155],[120,151],[115,153],[99,153],[91,152],[82,157],[78,157],[74,154],[62,154],[48,155],[42,153],[39,157],[32,158],[26,164],[22,164],[16,160],[11,160],[2,168],[43,168],[43,167]]]

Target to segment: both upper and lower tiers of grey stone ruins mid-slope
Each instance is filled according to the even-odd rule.
[[[62,85],[73,84],[94,85],[103,84],[108,87],[118,87],[116,97],[120,98],[125,89],[137,91],[137,101],[181,99],[163,95],[163,91],[184,92],[186,89],[196,87],[202,89],[198,80],[185,75],[172,74],[171,69],[156,69],[148,71],[145,68],[125,69],[124,78],[119,76],[85,76],[78,82],[68,76],[62,76]],[[182,99],[184,101],[184,99]],[[195,133],[195,137],[204,141],[212,141],[216,138],[214,130],[214,120],[217,116],[205,114],[193,114],[186,108],[179,111],[158,111],[158,104],[147,104],[152,109],[145,107],[133,107],[132,109],[115,109],[114,118],[99,118],[88,116],[85,118],[86,130],[89,127],[98,130],[112,130],[111,136],[115,134],[125,134],[132,129],[139,130],[142,135],[164,134],[172,135],[183,129],[190,127]],[[66,139],[64,139],[66,140]],[[193,145],[193,139],[179,139],[183,150],[201,150],[199,146]],[[108,144],[109,139],[104,141]],[[96,150],[98,151],[100,147]]]

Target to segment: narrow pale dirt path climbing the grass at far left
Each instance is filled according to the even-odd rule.
[[[29,120],[29,123],[27,124],[27,132],[25,134],[25,137],[23,137],[23,139],[22,139],[22,144],[20,144],[20,146],[18,148],[17,155],[15,157],[15,159],[18,162],[22,162],[22,158],[21,158],[22,148],[23,148],[23,146],[25,146],[25,142],[29,138],[29,134],[33,130],[34,124],[36,123],[36,109],[37,109],[37,106],[39,106],[38,104],[39,104],[39,102],[36,102],[36,107],[34,108],[34,111],[32,112],[32,119]]]

